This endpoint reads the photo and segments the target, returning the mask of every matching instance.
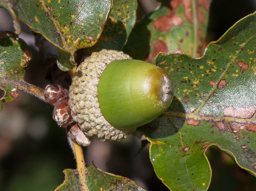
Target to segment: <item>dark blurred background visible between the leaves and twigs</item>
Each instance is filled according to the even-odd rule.
[[[148,1],[149,2],[149,1]],[[141,17],[144,11],[139,3]],[[213,0],[206,44],[217,40],[236,21],[256,10],[256,0]],[[0,30],[14,31],[9,13],[0,9]],[[22,24],[23,38],[33,54],[25,80],[44,88],[47,68],[43,63],[34,36]],[[1,95],[3,92],[1,91]],[[53,107],[19,92],[19,97],[3,103],[0,114],[0,191],[53,191],[64,180],[63,170],[76,168],[64,128],[52,119]],[[168,190],[156,177],[149,159],[149,145],[139,154],[140,141],[129,136],[119,143],[104,143],[96,139],[84,148],[87,166],[94,164],[102,170],[134,180],[148,191]],[[209,190],[255,191],[256,179],[236,165],[233,158],[218,148],[207,150],[212,167]]]

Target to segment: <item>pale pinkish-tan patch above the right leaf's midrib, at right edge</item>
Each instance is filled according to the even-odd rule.
[[[223,113],[225,116],[236,118],[252,118],[255,112],[256,108],[253,106],[250,106],[248,108],[239,107],[237,109],[235,109],[233,106],[228,106],[223,109]]]

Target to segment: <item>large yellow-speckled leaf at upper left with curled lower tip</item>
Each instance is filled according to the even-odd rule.
[[[76,65],[73,58],[76,50],[93,46],[97,42],[111,6],[111,0],[7,2],[14,10],[13,17],[41,33],[59,49],[57,63],[64,71]]]

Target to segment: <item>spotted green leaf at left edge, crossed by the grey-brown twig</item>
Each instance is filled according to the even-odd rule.
[[[27,44],[18,35],[10,31],[0,32],[0,88],[4,90],[1,102],[17,98],[17,87],[8,84],[24,81],[25,67],[31,58]]]

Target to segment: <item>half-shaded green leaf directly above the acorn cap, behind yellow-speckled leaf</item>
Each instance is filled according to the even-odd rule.
[[[136,21],[136,0],[112,0],[104,30],[97,43],[81,50],[87,55],[102,49],[121,50]]]

